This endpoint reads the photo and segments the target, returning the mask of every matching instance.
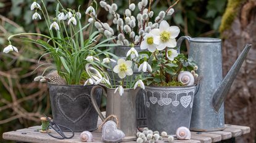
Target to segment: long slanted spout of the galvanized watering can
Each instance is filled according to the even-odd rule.
[[[236,62],[233,64],[233,66],[229,70],[228,74],[226,74],[226,77],[220,83],[220,86],[213,93],[212,104],[216,112],[220,110],[221,104],[225,101],[226,95],[228,95],[228,91],[236,77],[236,74],[241,68],[242,63],[246,59],[246,55],[249,52],[250,47],[252,47],[252,45],[250,44],[246,45],[244,50],[242,50],[241,55],[239,55]]]

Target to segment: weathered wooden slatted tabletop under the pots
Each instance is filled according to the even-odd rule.
[[[98,126],[101,124],[101,120],[98,120]],[[40,133],[41,126],[32,126],[30,128],[18,129],[17,131],[10,131],[2,134],[2,137],[6,140],[17,142],[35,142],[35,143],[81,143],[80,133],[75,133],[72,139],[55,139],[47,134]],[[250,133],[250,127],[248,126],[236,126],[226,125],[226,129],[223,131],[212,132],[191,132],[191,140],[181,141],[175,139],[173,143],[210,143],[210,142],[234,142],[235,137],[242,136],[243,134]],[[67,133],[71,134],[71,133]],[[94,142],[101,142],[101,131],[97,130],[93,132]],[[167,142],[166,139],[158,141],[159,143]],[[130,142],[129,142],[130,143]],[[133,142],[135,143],[135,142]]]

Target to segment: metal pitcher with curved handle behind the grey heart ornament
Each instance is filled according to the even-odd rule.
[[[105,88],[102,86],[93,87],[91,90],[91,100],[93,101],[93,106],[96,109],[99,117],[102,121],[105,117],[102,115],[99,106],[95,99],[94,90],[102,88],[104,90],[104,95],[107,97],[107,107],[106,107],[106,117],[109,115],[116,115],[118,118],[119,126],[123,133],[125,133],[125,139],[123,141],[133,141],[136,139],[136,96],[138,95],[139,88],[134,89],[124,89],[122,96],[119,93],[114,93],[114,88]]]

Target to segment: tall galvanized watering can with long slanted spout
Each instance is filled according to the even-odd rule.
[[[194,98],[190,129],[192,131],[225,129],[223,102],[252,45],[246,45],[223,79],[221,39],[183,36],[177,41],[178,52],[184,39],[189,41],[189,58],[196,61],[199,68],[197,72],[202,77],[199,91]]]

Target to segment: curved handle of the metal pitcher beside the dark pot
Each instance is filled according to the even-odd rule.
[[[97,106],[97,102],[96,102],[96,98],[95,98],[95,95],[94,95],[94,91],[97,89],[97,88],[101,88],[103,90],[103,95],[107,97],[107,91],[105,90],[104,87],[100,86],[100,85],[96,85],[94,86],[92,89],[91,89],[91,101],[93,103],[93,107],[94,109],[96,110],[97,114],[99,115],[99,117],[101,118],[102,121],[105,120],[105,117],[104,115],[101,113],[101,110],[99,109],[99,106]]]

